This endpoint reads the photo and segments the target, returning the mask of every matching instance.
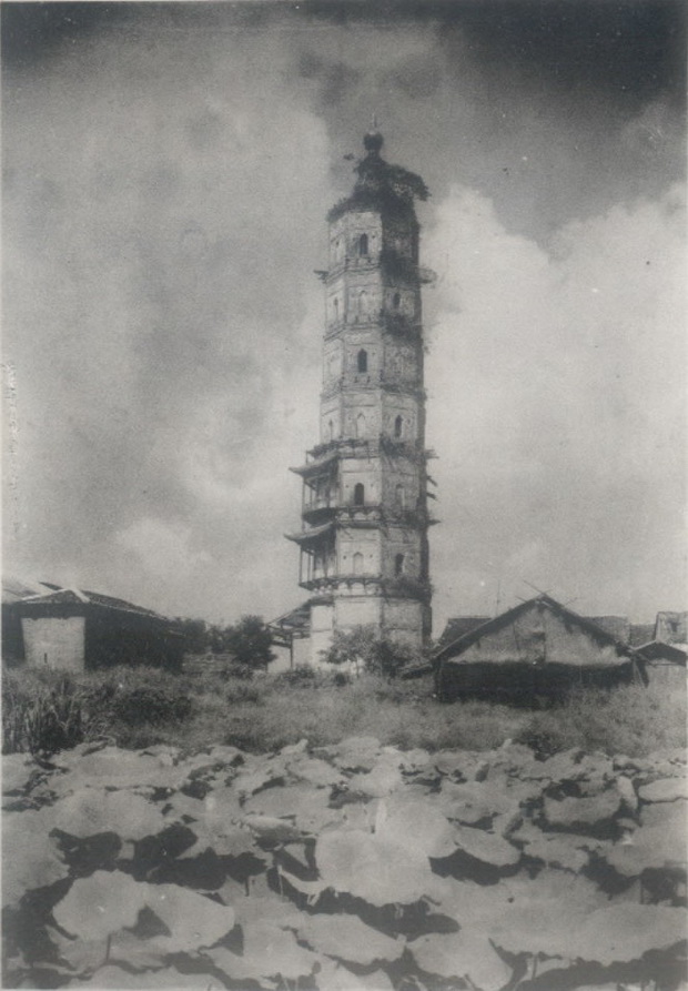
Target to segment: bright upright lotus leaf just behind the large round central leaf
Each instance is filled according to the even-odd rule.
[[[448,857],[456,849],[451,823],[437,808],[418,798],[397,796],[381,801],[375,832],[425,857]]]

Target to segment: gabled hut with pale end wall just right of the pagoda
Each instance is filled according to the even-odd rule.
[[[441,647],[439,698],[504,699],[528,705],[559,698],[574,686],[645,682],[644,663],[599,624],[548,595],[520,603]]]

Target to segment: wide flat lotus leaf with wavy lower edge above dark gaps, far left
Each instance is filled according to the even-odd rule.
[[[124,840],[142,840],[166,825],[161,811],[141,796],[104,788],[80,788],[55,802],[51,813],[57,829],[80,839],[117,832]]]

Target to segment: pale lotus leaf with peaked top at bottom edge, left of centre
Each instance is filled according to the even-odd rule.
[[[260,981],[282,977],[296,980],[312,973],[317,957],[304,950],[292,932],[271,922],[255,922],[243,930],[243,953],[223,947],[206,951],[213,963],[234,981]]]

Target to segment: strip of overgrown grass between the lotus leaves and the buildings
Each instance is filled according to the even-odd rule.
[[[3,677],[3,752],[51,752],[109,737],[139,749],[170,744],[184,751],[232,744],[266,752],[306,738],[313,746],[346,736],[427,750],[486,750],[513,739],[540,754],[569,747],[643,757],[686,746],[686,698],[633,686],[578,691],[542,711],[487,701],[451,705],[429,679],[387,681],[362,675],[172,675],[115,668],[88,675],[9,671]]]

